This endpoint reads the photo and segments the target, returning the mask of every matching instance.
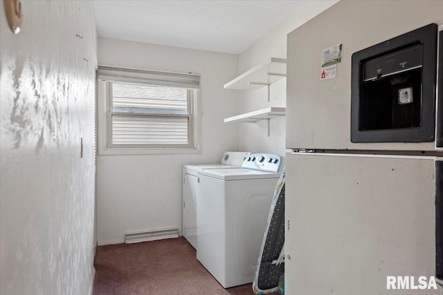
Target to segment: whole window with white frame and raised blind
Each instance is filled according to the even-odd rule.
[[[198,153],[199,75],[98,67],[99,153]]]

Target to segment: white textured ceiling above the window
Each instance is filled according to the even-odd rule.
[[[239,54],[309,0],[93,2],[99,37]]]

